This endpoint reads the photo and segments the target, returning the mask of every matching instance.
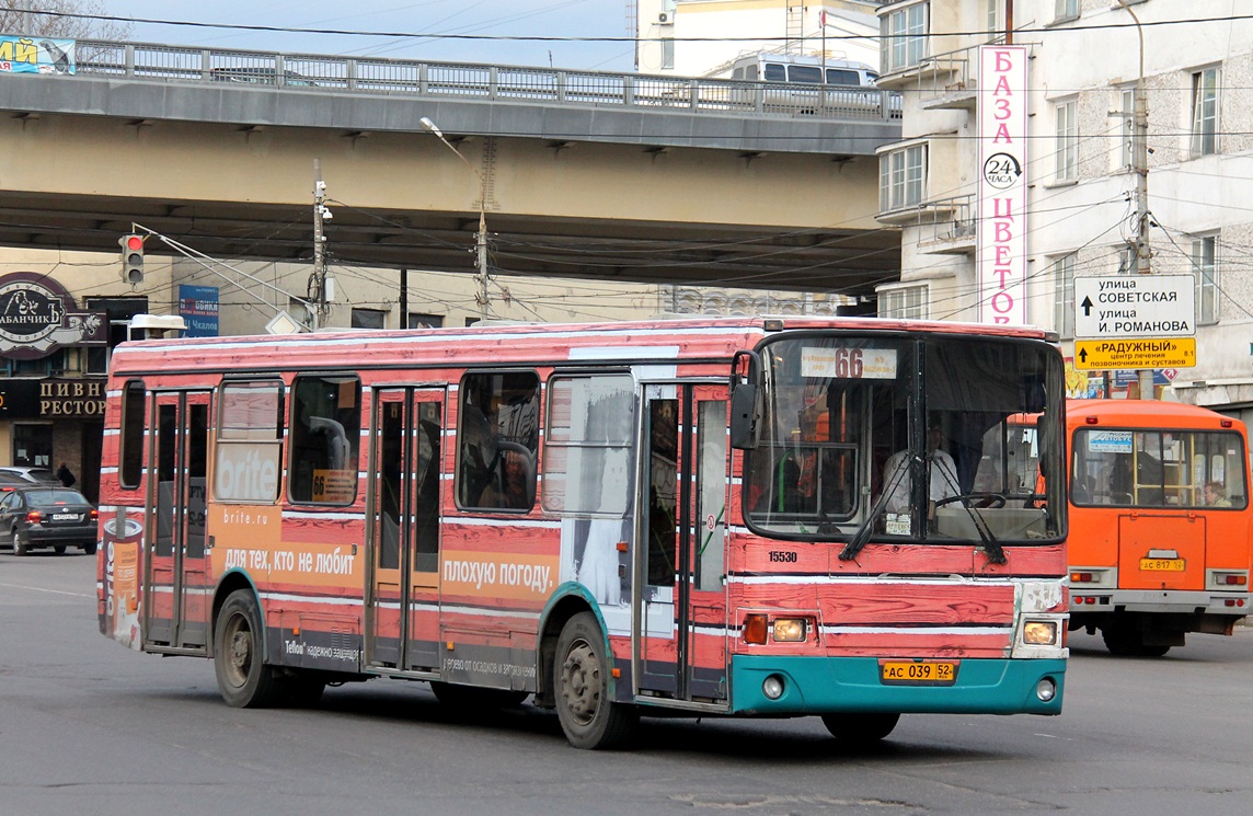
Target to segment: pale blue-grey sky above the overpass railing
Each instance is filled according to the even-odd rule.
[[[415,36],[346,36],[135,24],[144,43],[283,53],[466,60],[626,71],[630,43],[432,40],[419,34],[626,36],[626,0],[105,0],[108,14],[163,21],[385,31]]]

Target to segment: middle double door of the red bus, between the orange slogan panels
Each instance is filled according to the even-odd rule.
[[[366,661],[383,671],[439,666],[444,405],[442,389],[375,391]]]

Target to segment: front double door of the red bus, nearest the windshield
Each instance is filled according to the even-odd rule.
[[[645,386],[637,689],[727,699],[727,389]]]

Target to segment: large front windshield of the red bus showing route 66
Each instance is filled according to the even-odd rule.
[[[1056,541],[1061,364],[1046,347],[951,335],[792,335],[762,346],[744,518],[776,538],[858,531],[932,543]],[[1032,458],[1006,471],[1006,454]],[[1014,459],[1012,461],[1017,461]]]

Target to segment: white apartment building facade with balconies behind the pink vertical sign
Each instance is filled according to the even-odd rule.
[[[1012,6],[1010,8],[1010,4]],[[1228,0],[895,0],[878,11],[880,86],[905,95],[880,153],[881,223],[901,229],[883,316],[979,320],[979,49],[1025,48],[1026,320],[1073,358],[1075,280],[1135,273],[1134,102],[1148,107],[1144,239],[1153,273],[1189,275],[1195,367],[1164,399],[1253,419],[1253,20]],[[1143,40],[1141,40],[1143,38]],[[1081,281],[1081,288],[1084,282]],[[1135,394],[1134,372],[1073,370],[1075,395]]]

